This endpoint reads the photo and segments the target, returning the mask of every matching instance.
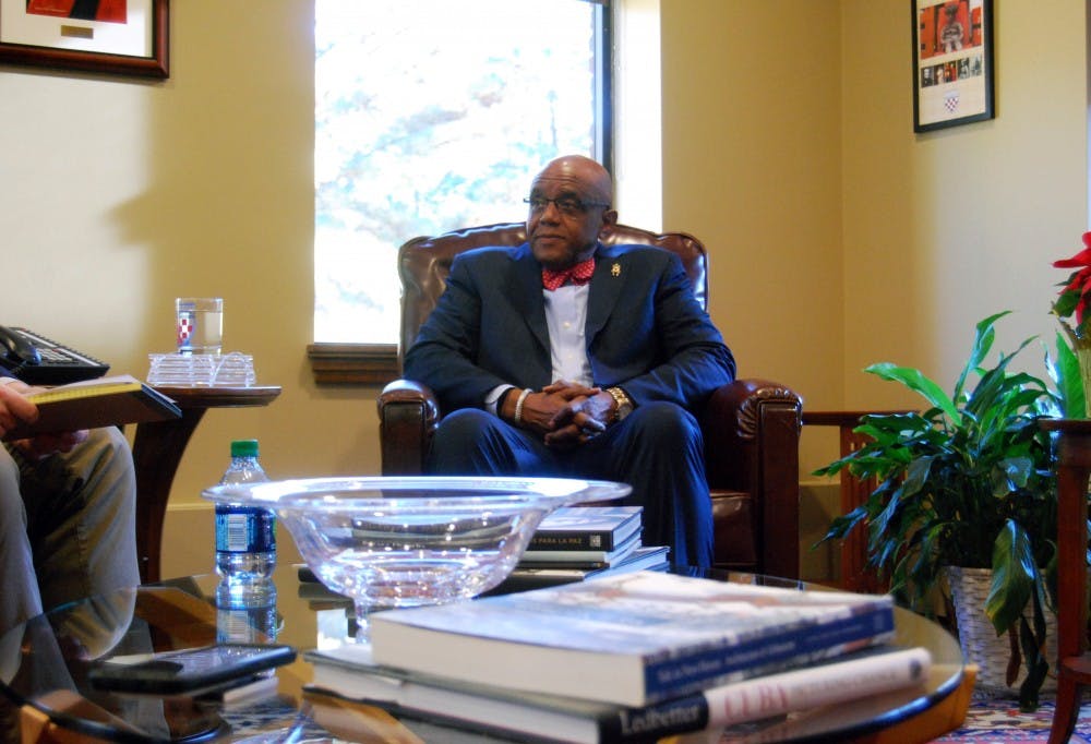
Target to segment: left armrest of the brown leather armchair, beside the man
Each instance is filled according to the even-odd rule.
[[[384,476],[419,476],[440,422],[440,405],[425,385],[395,380],[379,394],[379,444]]]

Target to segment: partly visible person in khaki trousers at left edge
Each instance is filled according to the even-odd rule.
[[[34,421],[34,388],[0,377],[0,436]],[[0,446],[0,633],[44,609],[140,584],[136,479],[117,428]]]

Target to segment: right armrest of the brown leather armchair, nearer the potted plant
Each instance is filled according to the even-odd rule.
[[[702,411],[709,490],[754,499],[758,571],[800,575],[800,429],[803,400],[768,380],[735,380]]]

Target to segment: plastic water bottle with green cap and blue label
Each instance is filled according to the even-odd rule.
[[[257,459],[257,441],[231,442],[231,465],[220,484],[267,480]],[[216,573],[223,579],[221,591],[217,593],[250,595],[259,602],[271,592],[275,596],[274,567],[276,516],[273,512],[243,504],[216,504]]]

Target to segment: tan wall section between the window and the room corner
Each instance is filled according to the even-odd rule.
[[[839,8],[662,3],[663,227],[709,247],[739,374],[824,408],[841,405],[844,333]]]

